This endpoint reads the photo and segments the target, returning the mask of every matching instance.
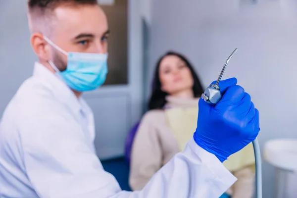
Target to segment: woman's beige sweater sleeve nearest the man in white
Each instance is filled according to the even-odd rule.
[[[141,190],[162,166],[162,148],[153,114],[142,119],[135,136],[130,163],[129,184],[133,191]]]

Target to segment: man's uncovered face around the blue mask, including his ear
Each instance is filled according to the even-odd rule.
[[[60,71],[67,65],[67,56],[53,48],[44,36],[66,52],[107,52],[108,24],[98,5],[60,5],[46,17],[40,21],[48,27],[34,32],[31,37],[32,47],[44,65],[51,60]]]

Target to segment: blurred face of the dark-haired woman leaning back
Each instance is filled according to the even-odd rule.
[[[176,55],[167,55],[162,59],[159,67],[159,78],[162,90],[169,95],[192,89],[194,85],[191,70]]]

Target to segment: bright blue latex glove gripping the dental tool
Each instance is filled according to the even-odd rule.
[[[259,111],[244,88],[231,78],[219,83],[222,99],[215,105],[199,100],[195,142],[223,162],[259,133]]]

